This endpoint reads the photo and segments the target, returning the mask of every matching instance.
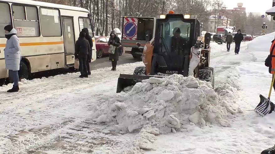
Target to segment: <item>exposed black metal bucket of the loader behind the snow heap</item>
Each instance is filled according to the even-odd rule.
[[[134,86],[137,82],[141,82],[142,80],[149,79],[150,77],[158,77],[160,76],[150,76],[150,75],[130,75],[130,74],[120,74],[117,85],[117,93],[122,92],[124,88],[129,86]]]

